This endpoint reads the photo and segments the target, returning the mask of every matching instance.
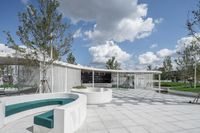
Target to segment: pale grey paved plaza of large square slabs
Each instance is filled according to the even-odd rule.
[[[76,133],[200,133],[200,105],[193,98],[152,90],[114,90],[111,103],[89,105]],[[30,133],[33,116],[8,124],[0,133]]]

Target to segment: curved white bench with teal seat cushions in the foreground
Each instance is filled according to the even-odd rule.
[[[74,101],[65,100],[70,98]],[[30,103],[34,107],[29,106]],[[53,111],[49,111],[52,109]],[[44,111],[49,112],[35,117],[34,133],[73,133],[86,118],[87,98],[76,93],[48,93],[0,98],[0,128],[14,120]],[[41,121],[47,124],[40,124]]]

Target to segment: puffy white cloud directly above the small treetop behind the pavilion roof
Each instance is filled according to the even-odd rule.
[[[128,61],[131,58],[129,53],[123,51],[113,41],[107,41],[105,44],[90,47],[89,52],[92,56],[93,63],[105,63],[113,56],[115,56],[119,63]]]

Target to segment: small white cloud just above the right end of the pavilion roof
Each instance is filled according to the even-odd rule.
[[[140,64],[152,64],[160,59],[153,52],[146,52],[144,54],[139,55],[138,57]]]

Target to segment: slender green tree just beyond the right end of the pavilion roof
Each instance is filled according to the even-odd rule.
[[[173,69],[173,66],[172,66],[171,57],[167,56],[164,58],[164,61],[163,61],[162,74],[163,74],[164,79],[170,80],[172,78],[172,69]]]

